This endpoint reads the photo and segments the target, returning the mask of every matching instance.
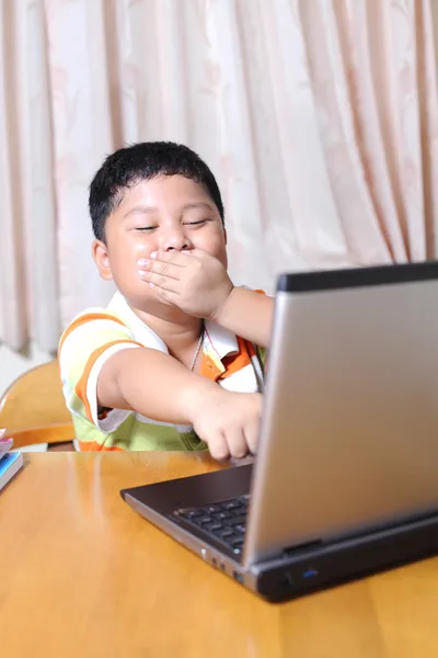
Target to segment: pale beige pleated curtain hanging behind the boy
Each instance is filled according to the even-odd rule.
[[[437,252],[430,0],[3,0],[0,340],[45,350],[112,293],[87,198],[175,139],[223,191],[237,283]]]

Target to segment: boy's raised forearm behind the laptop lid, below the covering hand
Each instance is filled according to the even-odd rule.
[[[237,336],[268,348],[274,317],[274,299],[247,288],[234,287],[214,318]]]

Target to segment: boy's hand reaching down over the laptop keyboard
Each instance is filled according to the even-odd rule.
[[[193,427],[215,460],[255,454],[262,402],[260,393],[230,393],[219,386],[196,396]]]

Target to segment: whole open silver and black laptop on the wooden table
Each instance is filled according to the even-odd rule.
[[[274,315],[255,463],[124,500],[269,601],[438,553],[438,264],[284,274]]]

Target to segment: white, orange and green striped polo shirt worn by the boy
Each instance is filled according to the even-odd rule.
[[[165,343],[131,310],[120,293],[106,308],[79,315],[59,343],[62,390],[80,450],[205,450],[192,426],[159,422],[125,409],[97,405],[97,377],[119,350],[151,348],[169,354]],[[265,351],[216,322],[205,321],[200,374],[227,390],[262,393]]]

